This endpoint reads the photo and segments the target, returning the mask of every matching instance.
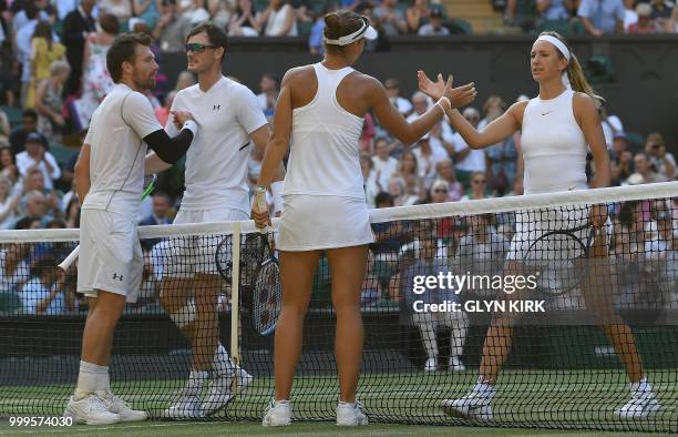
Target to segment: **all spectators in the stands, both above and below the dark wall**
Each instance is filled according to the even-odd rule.
[[[592,34],[623,28],[629,33],[648,29],[672,31],[678,10],[668,1],[655,0],[595,1],[596,4],[604,3],[604,8],[592,8],[588,0],[510,0],[505,6],[507,20],[514,21],[528,10],[531,1],[544,20],[579,20]],[[342,0],[336,3],[305,0],[82,0],[79,4],[73,0],[14,0],[10,7],[0,2],[0,8],[3,8],[0,14],[0,103],[6,108],[21,108],[21,118],[13,129],[8,114],[0,111],[0,228],[79,226],[80,204],[72,186],[76,154],[71,151],[64,159],[61,143],[64,136],[86,130],[92,112],[112,87],[105,55],[120,32],[134,30],[152,34],[155,40],[153,50],[161,58],[163,53],[183,50],[188,30],[202,20],[212,19],[224,26],[230,35],[308,35],[310,50],[320,53],[322,13],[339,7],[366,13],[379,29],[381,38],[449,34],[458,30],[449,14],[454,11],[448,11],[440,2],[427,0]],[[193,85],[195,78],[183,72],[174,87],[166,82],[166,78],[160,74],[158,89],[147,94],[161,123],[166,122],[176,92]],[[396,79],[386,78],[383,83],[391,102],[408,120],[424,113],[432,104],[420,92],[403,95]],[[257,100],[269,120],[273,120],[278,87],[276,74],[261,77]],[[517,99],[527,98],[521,95]],[[463,116],[479,129],[500,116],[508,105],[499,95],[481,103],[463,109]],[[676,160],[660,133],[643,139],[627,133],[622,120],[608,114],[605,108],[600,109],[600,116],[612,157],[614,185],[676,179]],[[443,121],[417,143],[402,144],[389,136],[378,120],[367,114],[360,152],[370,207],[466,202],[523,192],[518,133],[491,148],[471,150]],[[260,159],[251,156],[250,183],[257,179]],[[181,169],[162,176],[162,191],[144,202],[140,224],[172,223],[181,203]],[[665,209],[653,205],[641,215],[654,224],[646,230],[649,232],[647,235],[641,235],[644,240],[635,241],[637,253],[647,252],[650,246],[658,247],[657,251],[672,254],[664,258],[674,260],[678,242],[670,235],[678,228],[678,205],[674,203]],[[456,256],[459,261],[466,254],[465,245],[483,246],[485,233],[489,233],[490,246],[499,251],[514,231],[512,217],[505,214],[476,218],[448,218],[435,224],[431,232],[439,238],[442,256]],[[668,223],[671,227],[667,227]],[[620,228],[623,224],[615,222],[615,226]],[[473,230],[477,228],[484,231],[476,235]],[[634,227],[627,224],[626,228]],[[366,282],[364,302],[400,302],[404,298],[400,276],[408,266],[402,261],[417,252],[417,235],[398,222],[392,226],[377,224],[374,231],[378,241],[371,260],[376,268],[371,267],[374,276],[369,276]],[[162,252],[162,246],[158,247],[162,243],[144,243],[146,268],[142,304],[155,302],[163,266],[158,265],[158,257],[154,254]],[[615,247],[624,244],[630,243],[619,242]],[[0,247],[0,293],[21,294],[25,289],[30,294],[23,296],[42,296],[41,304],[31,297],[32,304],[23,305],[28,313],[75,311],[82,303],[74,297],[72,281],[55,272],[42,273],[68,250],[65,245],[3,245]],[[45,264],[43,258],[48,255],[51,258]],[[60,298],[54,295],[54,287],[69,288],[72,296]]]

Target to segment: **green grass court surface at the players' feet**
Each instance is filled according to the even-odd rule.
[[[461,374],[367,374],[360,385],[360,400],[364,405],[373,424],[370,433],[381,435],[398,434],[444,434],[459,430],[468,423],[451,419],[442,414],[438,405],[443,398],[464,395],[472,386],[475,370]],[[502,379],[510,382],[497,385],[499,394],[494,399],[494,414],[500,424],[512,427],[558,427],[594,428],[607,430],[669,431],[678,430],[678,387],[671,382],[678,379],[676,370],[661,370],[649,374],[654,389],[664,408],[649,419],[636,423],[623,421],[613,414],[614,409],[628,400],[625,377],[614,370],[506,370]],[[136,380],[126,384],[114,384],[113,389],[121,397],[131,402],[135,408],[145,409],[157,417],[182,387],[183,380]],[[333,417],[337,402],[336,379],[333,376],[299,377],[295,385],[292,400],[295,416],[300,420],[329,420]],[[150,423],[138,425],[134,435],[194,435],[183,433],[234,433],[258,434],[261,414],[270,398],[273,380],[259,377],[248,393],[238,396],[235,402],[216,417],[219,420],[251,420],[250,424],[172,424]],[[73,387],[32,386],[0,387],[0,410],[16,415],[61,415]],[[7,420],[7,419],[4,419]],[[412,426],[401,427],[384,425],[390,423],[409,423]],[[155,424],[155,425],[154,425]],[[443,425],[421,427],[415,425]],[[318,427],[317,429],[315,427]],[[3,431],[9,429],[1,428]],[[73,430],[80,433],[80,427]],[[94,430],[94,428],[85,427]],[[101,430],[102,433],[123,433],[123,426]],[[492,434],[487,428],[463,428],[469,433],[487,431],[486,435],[506,435],[513,430],[502,429]],[[332,424],[300,423],[290,428],[290,433],[329,433],[336,434]],[[42,433],[43,429],[40,429]],[[47,431],[47,430],[45,430]],[[367,430],[366,430],[367,431]],[[178,433],[178,434],[174,434]],[[278,431],[276,433],[286,433]],[[518,429],[527,433],[525,429]],[[343,433],[342,433],[343,434]],[[360,433],[363,435],[364,433]],[[530,433],[531,434],[531,433]],[[553,434],[553,433],[552,433]],[[146,435],[146,434],[141,434]],[[197,434],[196,434],[197,435]],[[513,434],[512,434],[513,435]],[[540,435],[548,435],[543,433]]]

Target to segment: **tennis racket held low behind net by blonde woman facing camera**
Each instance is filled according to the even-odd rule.
[[[583,241],[582,231],[588,230]],[[588,275],[590,248],[596,230],[590,224],[549,231],[536,238],[525,253],[523,264],[537,276],[537,288],[547,296],[561,296],[577,288]],[[578,253],[578,256],[571,256]]]

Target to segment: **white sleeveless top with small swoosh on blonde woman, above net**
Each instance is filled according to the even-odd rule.
[[[555,99],[537,96],[527,103],[521,135],[525,194],[586,189],[588,145],[573,99],[568,89]]]

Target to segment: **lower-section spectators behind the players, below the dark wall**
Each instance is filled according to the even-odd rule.
[[[181,74],[176,88],[192,83],[194,80],[189,73]],[[261,111],[270,118],[273,102],[278,93],[278,78],[265,73],[259,87],[257,100]],[[402,95],[396,79],[386,79],[384,88],[393,105],[407,119],[418,116],[432,104],[421,92],[415,92],[410,99]],[[158,105],[158,118],[166,116],[172,95],[168,93],[165,105]],[[517,98],[523,99],[526,96]],[[507,103],[501,96],[492,95],[477,109],[463,109],[462,114],[471,124],[482,129],[506,108]],[[600,108],[600,118],[612,159],[613,185],[676,180],[676,160],[667,151],[660,133],[651,133],[643,143],[638,143],[639,135],[626,133],[623,121],[608,114],[604,106]],[[3,228],[78,227],[80,207],[71,189],[73,163],[60,169],[50,153],[49,141],[39,132],[38,126],[35,111],[27,110],[21,125],[10,135],[10,144],[0,148],[0,224]],[[370,207],[470,202],[523,193],[520,133],[491,148],[472,150],[446,121],[442,121],[417,143],[402,144],[389,136],[378,120],[368,114],[360,139],[360,153],[366,199]],[[253,155],[249,165],[250,183],[256,181],[259,169],[260,156]],[[172,223],[181,202],[181,186],[175,192],[171,187],[172,184],[164,183],[165,191],[156,192],[144,202],[138,217],[141,225]],[[667,284],[675,283],[678,268],[675,264],[678,237],[674,236],[674,230],[678,230],[677,201],[672,204],[657,202],[641,205],[646,210],[627,212],[627,218],[623,218],[624,214],[617,211],[613,222],[616,232],[612,234],[614,244],[610,254],[618,254],[619,265],[622,261],[626,263],[620,274],[627,274],[629,265],[637,266],[638,257],[645,260],[649,255],[651,260],[645,260],[648,263],[636,268],[645,274],[649,272],[648,268],[664,265],[662,272],[668,273],[662,287],[672,289]],[[628,220],[629,216],[635,217],[636,222]],[[490,263],[491,267],[487,268],[501,271],[502,260],[514,232],[515,217],[511,214],[486,214],[435,221],[428,228],[427,235],[435,242],[438,255],[455,265],[472,265],[482,261],[481,264]],[[417,250],[423,242],[421,228],[392,222],[374,224],[374,233],[377,243],[372,247],[371,275],[366,280],[363,302],[408,302],[411,296],[408,296],[408,287],[403,287],[401,276],[407,277],[407,268],[415,260]],[[617,236],[622,240],[617,241]],[[154,304],[156,301],[166,260],[163,250],[167,247],[163,244],[165,242],[162,241],[145,241],[143,244],[146,268],[142,304]],[[481,253],[485,250],[485,253]],[[34,302],[32,306],[25,304],[24,311],[74,311],[78,305],[83,305],[74,297],[69,281],[62,285],[70,286],[71,298],[53,298],[50,287],[55,286],[60,277],[55,274],[42,276],[34,270],[35,265],[44,267],[43,264],[37,264],[41,260],[38,256],[40,253],[59,258],[68,251],[64,247],[31,247],[29,244],[6,245],[0,251],[0,271],[7,280],[4,286],[21,292],[30,284],[31,294],[20,295],[34,296],[35,293],[42,293],[45,299],[50,299],[49,305],[37,305]],[[43,286],[40,287],[40,284]]]

